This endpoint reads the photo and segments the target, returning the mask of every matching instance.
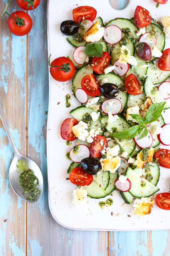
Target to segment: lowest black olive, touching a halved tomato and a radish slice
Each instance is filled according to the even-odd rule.
[[[81,160],[80,162],[81,168],[87,173],[87,174],[96,174],[101,169],[101,164],[99,161],[97,161],[95,158],[92,157],[86,157]]]

